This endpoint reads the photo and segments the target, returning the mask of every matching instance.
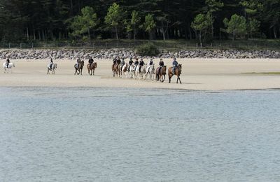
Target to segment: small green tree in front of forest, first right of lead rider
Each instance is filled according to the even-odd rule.
[[[214,23],[214,19],[211,13],[198,14],[193,20],[191,27],[198,32],[198,38],[200,43],[204,42],[207,36],[211,34],[211,26]]]

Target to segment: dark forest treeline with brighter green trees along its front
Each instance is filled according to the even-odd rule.
[[[279,0],[0,0],[3,43],[279,37]]]

